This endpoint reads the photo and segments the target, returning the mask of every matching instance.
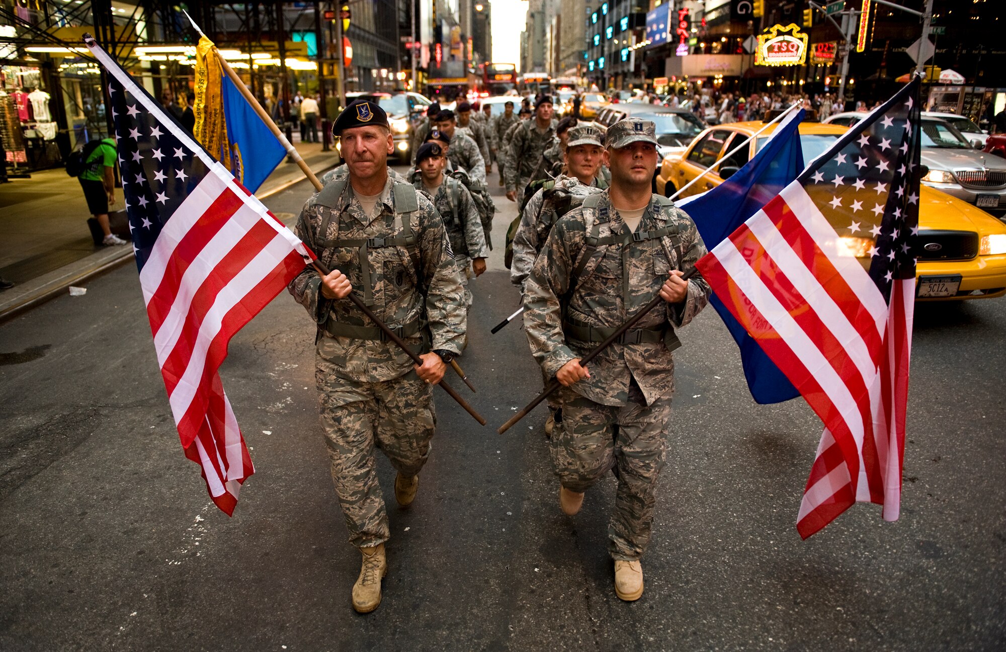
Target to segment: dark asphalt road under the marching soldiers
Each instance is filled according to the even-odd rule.
[[[292,217],[307,194],[267,203]],[[502,241],[514,208],[497,199]],[[289,295],[221,372],[257,467],[233,518],[182,455],[133,267],[0,325],[0,649],[1002,649],[1006,300],[918,307],[901,519],[857,505],[807,541],[820,423],[799,399],[757,405],[700,315],[675,354],[646,593],[626,604],[606,552],[614,478],[563,516],[544,409],[495,432],[540,387],[519,325],[489,334],[518,305],[501,257],[474,282],[461,358],[478,393],[453,379],[489,425],[438,391],[367,616],[349,604],[359,553],[328,475],[314,329]]]

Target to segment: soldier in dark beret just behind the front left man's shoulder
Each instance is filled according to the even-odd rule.
[[[415,155],[418,174],[412,175],[412,185],[424,190],[434,200],[434,205],[447,227],[454,260],[461,271],[461,284],[465,287],[465,306],[472,307],[472,292],[468,289],[468,269],[478,278],[486,271],[486,237],[482,220],[472,195],[458,179],[444,174],[447,156],[437,142],[426,143]]]

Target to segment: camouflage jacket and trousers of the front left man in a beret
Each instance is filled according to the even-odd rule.
[[[426,195],[390,178],[377,209],[374,217],[364,214],[346,178],[304,204],[295,232],[329,269],[349,277],[353,292],[413,350],[459,353],[464,290],[437,209]],[[433,386],[348,299],[325,299],[319,285],[308,267],[289,290],[318,327],[315,379],[349,541],[373,546],[389,536],[374,448],[404,476],[423,468],[436,425]]]

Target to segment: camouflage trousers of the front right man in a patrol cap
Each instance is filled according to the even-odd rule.
[[[624,406],[596,403],[567,387],[560,388],[559,400],[562,422],[549,440],[559,482],[570,491],[586,491],[614,468],[619,484],[608,524],[609,551],[614,559],[639,559],[650,542],[671,399],[648,406],[634,380]]]

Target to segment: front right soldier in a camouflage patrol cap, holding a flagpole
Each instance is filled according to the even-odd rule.
[[[531,352],[562,385],[561,423],[549,441],[559,505],[579,511],[583,492],[610,469],[618,491],[609,523],[615,593],[643,595],[640,563],[653,523],[674,392],[675,328],[705,306],[709,286],[684,271],[706,253],[681,209],[651,194],[657,165],[654,124],[616,123],[606,136],[612,184],[552,227],[525,285],[524,325]],[[590,368],[579,360],[642,306],[648,313]]]

